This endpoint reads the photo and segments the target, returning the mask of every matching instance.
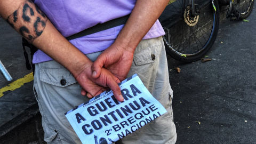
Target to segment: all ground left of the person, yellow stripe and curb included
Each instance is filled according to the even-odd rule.
[[[32,70],[26,69],[21,36],[2,18],[0,18],[0,34],[0,60],[13,78],[11,82],[7,82],[0,75],[0,141],[2,143],[42,141],[40,115],[31,81],[33,75],[30,74]],[[29,49],[26,50],[30,60]]]

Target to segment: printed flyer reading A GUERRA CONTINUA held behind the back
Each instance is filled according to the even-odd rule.
[[[166,113],[137,74],[118,85],[123,102],[109,90],[65,114],[82,143],[113,143]]]

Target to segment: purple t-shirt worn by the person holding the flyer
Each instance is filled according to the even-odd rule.
[[[64,37],[76,34],[98,23],[130,14],[135,2],[136,0],[34,1]],[[84,54],[103,51],[113,44],[122,28],[123,25],[117,26],[69,42]],[[143,39],[155,38],[164,34],[164,30],[157,20]],[[33,57],[33,63],[49,60],[52,58],[41,50],[38,50]]]

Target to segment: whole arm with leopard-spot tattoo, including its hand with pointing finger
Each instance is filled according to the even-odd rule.
[[[123,100],[119,98],[119,80],[106,69],[100,77],[92,78],[92,61],[69,43],[33,2],[0,1],[0,15],[29,42],[66,67],[86,92],[95,96],[110,87],[117,100]]]

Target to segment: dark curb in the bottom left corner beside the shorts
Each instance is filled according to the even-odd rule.
[[[4,143],[45,143],[43,140],[43,127],[41,124],[41,114],[37,103],[11,121],[0,127],[0,141]]]

